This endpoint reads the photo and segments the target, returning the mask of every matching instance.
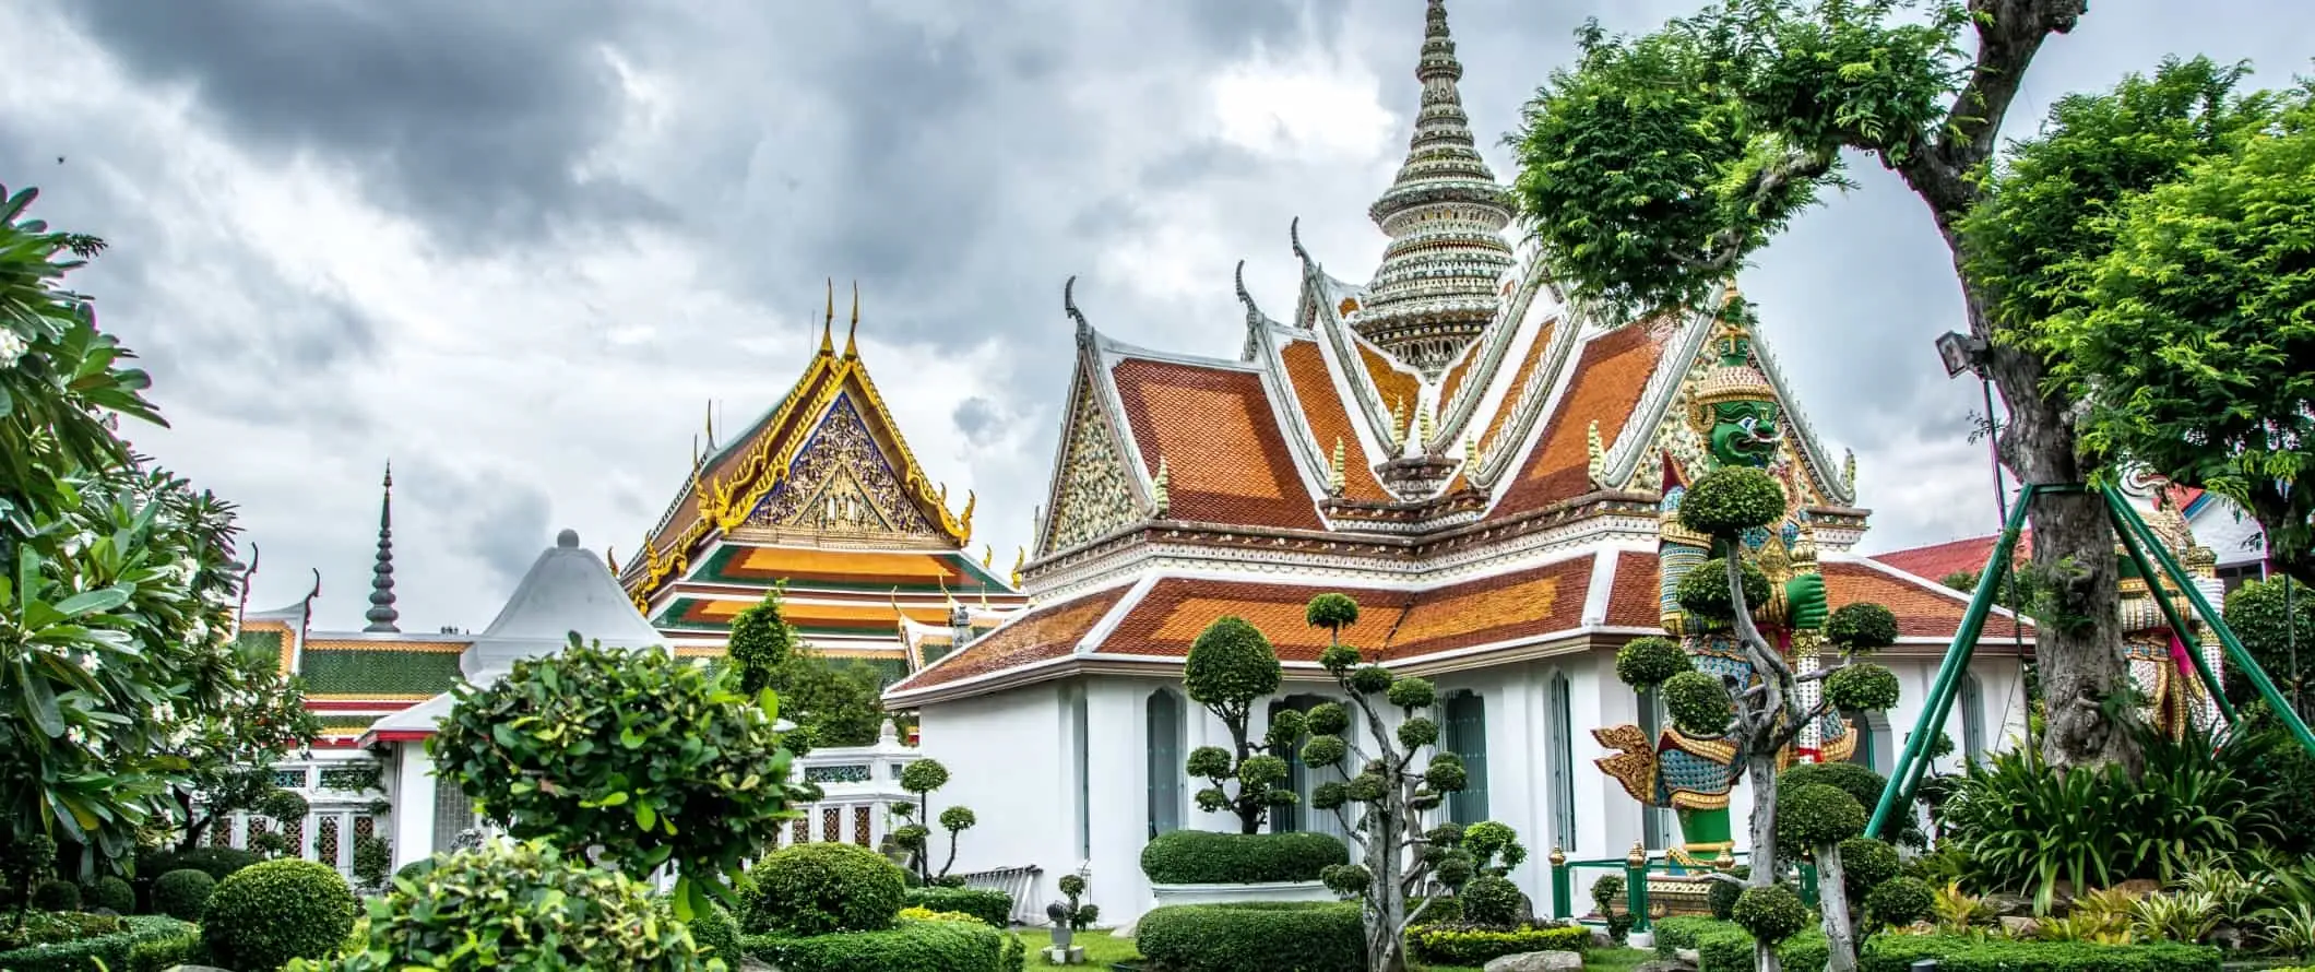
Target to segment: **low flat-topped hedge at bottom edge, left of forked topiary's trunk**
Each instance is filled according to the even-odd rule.
[[[1366,970],[1352,903],[1167,905],[1141,916],[1134,944],[1167,972]]]

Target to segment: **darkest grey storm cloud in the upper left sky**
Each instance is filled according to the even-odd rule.
[[[530,5],[396,0],[72,0],[60,5],[132,74],[190,83],[250,146],[319,153],[444,243],[542,229],[558,215],[637,218],[634,187],[574,167],[618,123],[597,44],[616,0]],[[544,14],[544,16],[542,16]]]

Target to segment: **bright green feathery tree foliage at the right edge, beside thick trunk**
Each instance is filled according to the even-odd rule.
[[[2081,447],[2241,502],[2315,583],[2315,88],[2165,60],[2060,100],[1963,220],[1968,268],[2084,403]]]

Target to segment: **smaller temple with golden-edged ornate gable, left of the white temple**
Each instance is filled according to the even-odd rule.
[[[854,340],[857,289],[843,352],[833,324],[831,287],[820,352],[796,384],[738,437],[708,442],[618,567],[676,653],[720,655],[732,618],[782,586],[806,643],[896,680],[1023,604],[993,551],[968,553],[975,495],[949,509],[877,396]]]

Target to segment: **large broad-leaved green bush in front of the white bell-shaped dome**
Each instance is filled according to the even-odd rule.
[[[678,914],[704,907],[704,891],[727,893],[722,877],[778,838],[801,796],[771,694],[732,692],[664,648],[607,650],[572,634],[560,655],[454,694],[426,741],[440,775],[521,840],[600,847],[597,861],[630,872],[671,863]]]

